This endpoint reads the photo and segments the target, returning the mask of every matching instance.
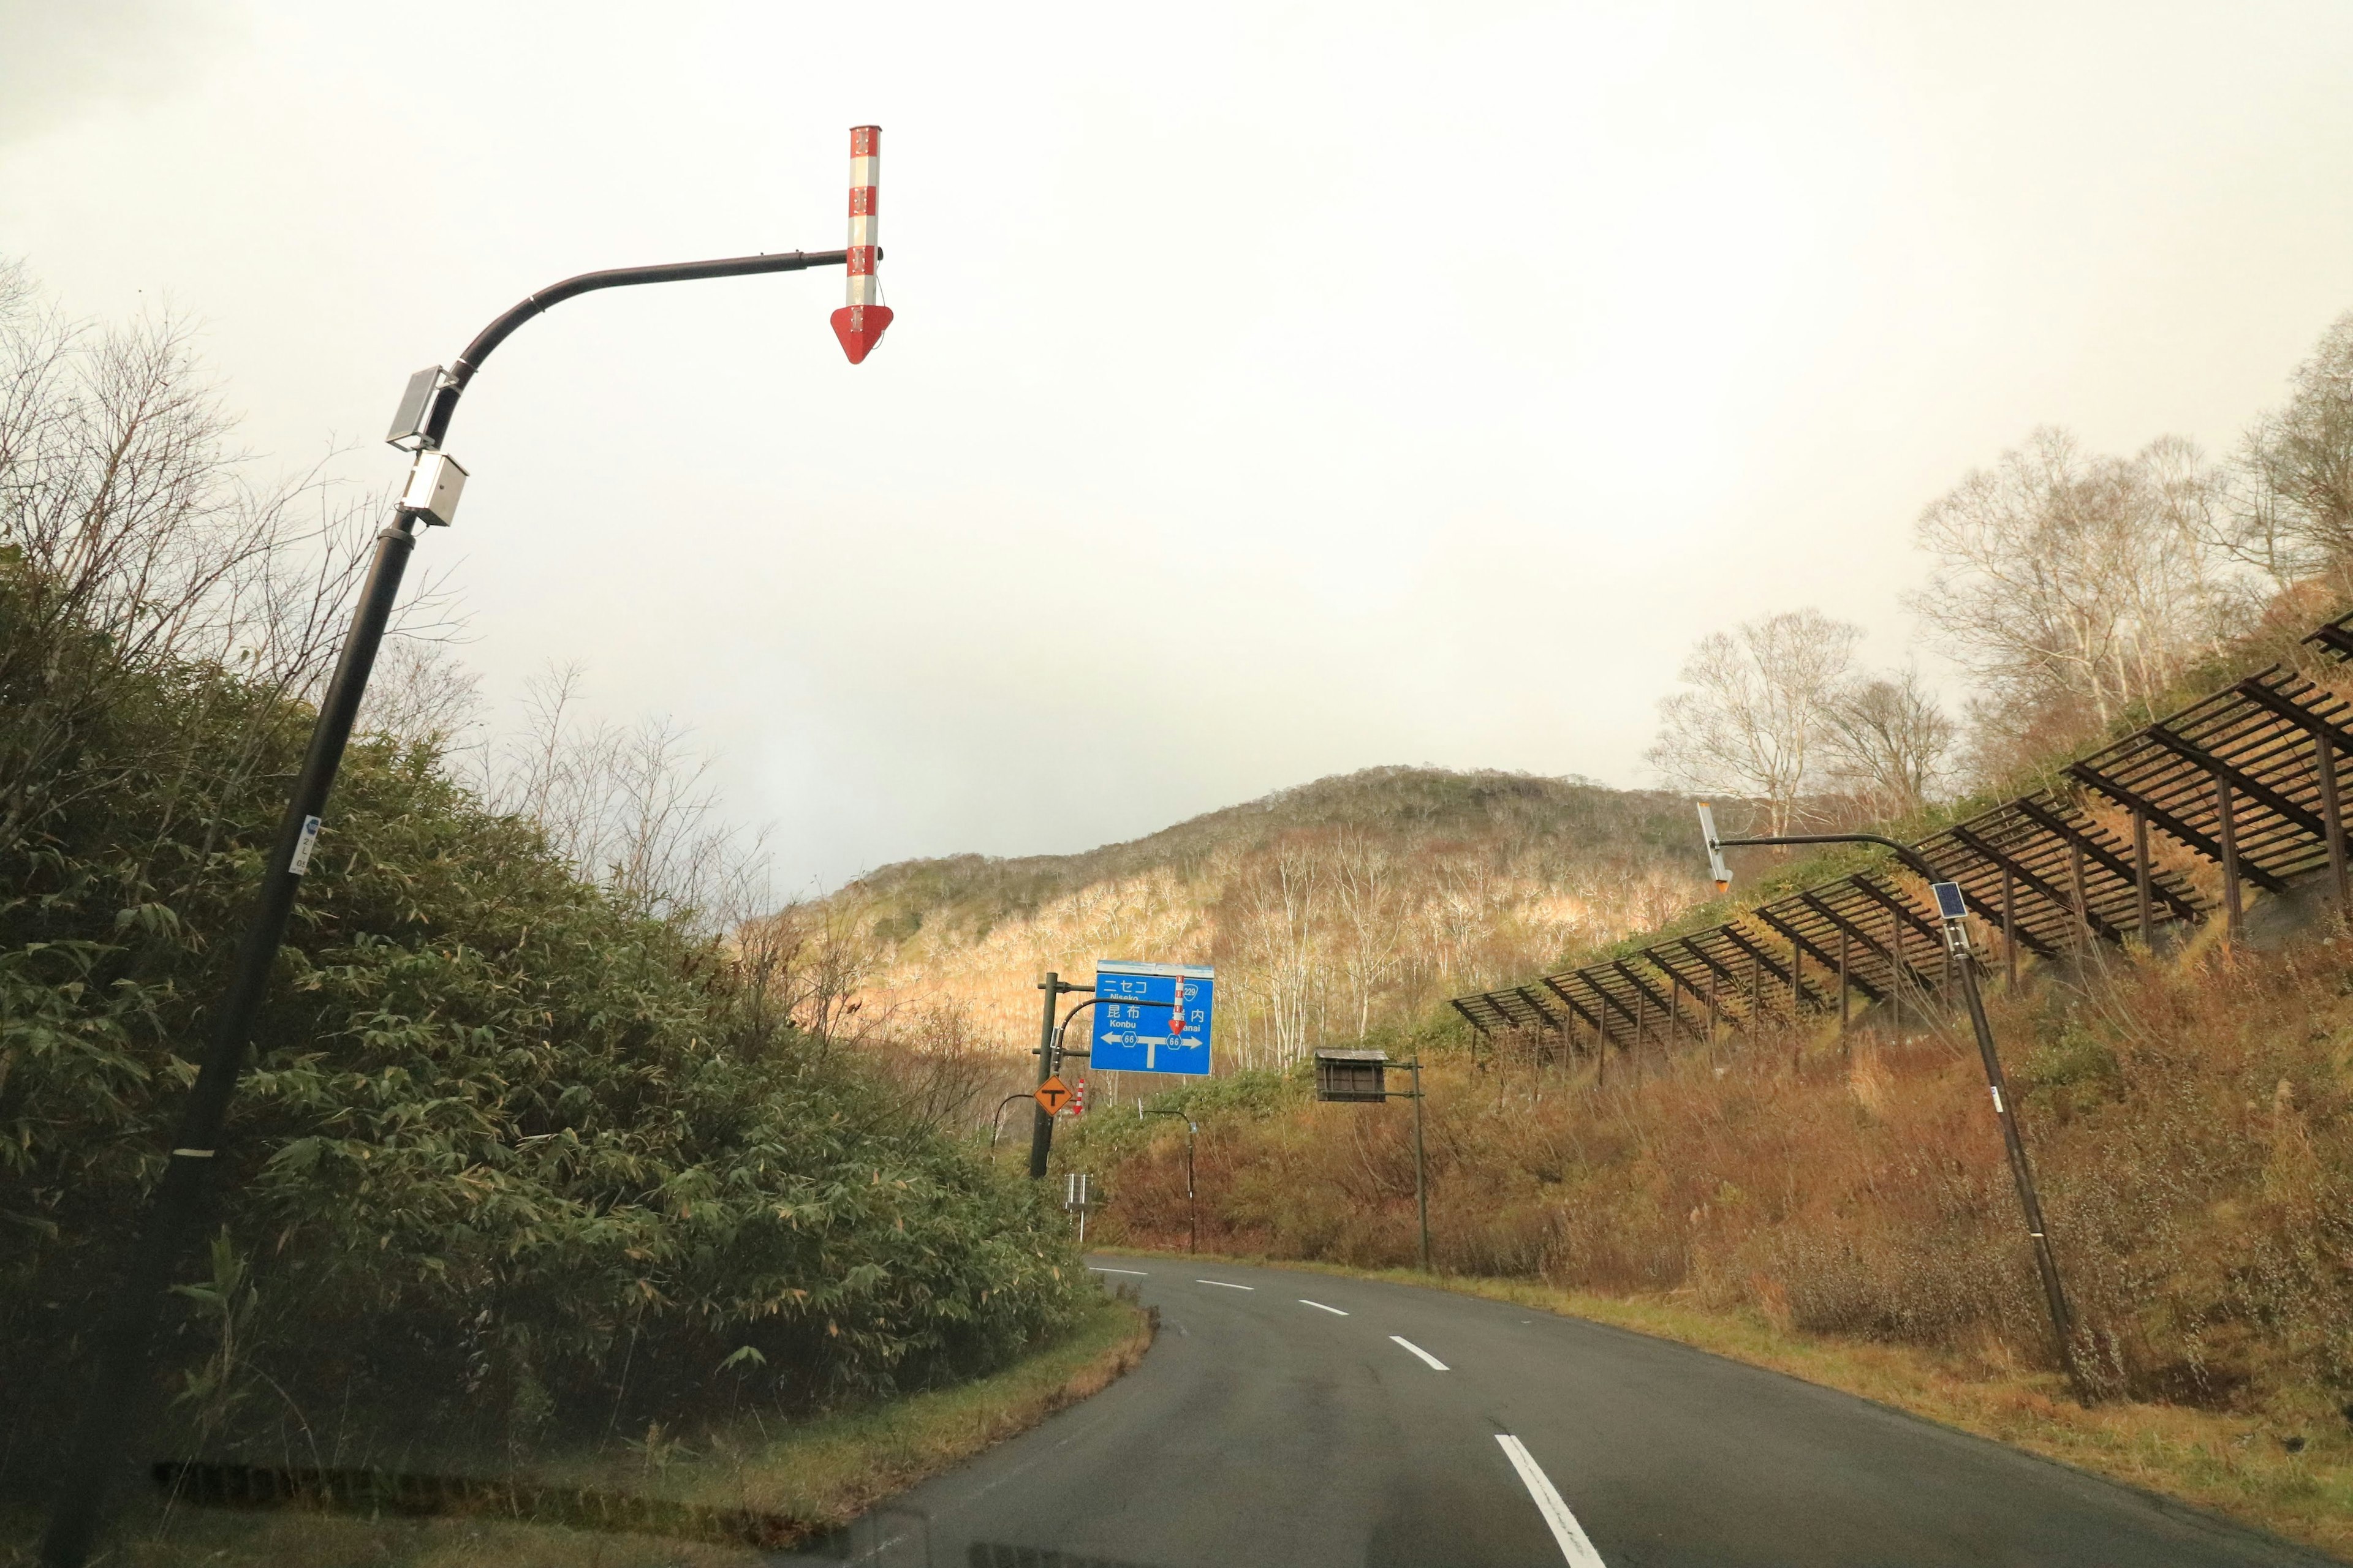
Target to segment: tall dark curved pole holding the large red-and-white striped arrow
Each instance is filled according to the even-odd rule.
[[[384,644],[384,628],[393,616],[393,599],[400,595],[400,578],[407,571],[409,552],[416,548],[419,524],[449,524],[456,498],[466,484],[466,470],[442,451],[449,421],[456,416],[459,397],[482,369],[482,360],[534,315],[560,306],[567,299],[595,289],[626,289],[647,282],[689,282],[696,277],[748,277],[753,273],[800,273],[816,266],[847,266],[852,275],[873,275],[873,263],[882,256],[873,244],[873,169],[880,132],[859,127],[849,134],[852,146],[852,244],[838,252],[779,252],[772,256],[729,256],[722,261],[678,261],[668,266],[612,268],[605,273],[581,273],[553,287],[539,289],[515,308],[489,322],[466,353],[447,369],[421,369],[409,378],[400,400],[391,444],[409,449],[416,461],[409,484],[393,510],[393,520],[376,534],[376,555],[369,562],[367,581],[360,588],[360,604],[353,609],[351,630],[327,682],[327,696],[318,705],[311,724],[311,745],[304,750],[301,771],[294,776],[294,792],[287,799],[285,818],[278,823],[278,839],[271,846],[268,870],[254,900],[252,919],[238,943],[228,971],[228,990],[214,1016],[212,1041],[205,1048],[195,1084],[181,1107],[179,1128],[172,1135],[172,1154],[165,1161],[162,1180],[148,1201],[146,1220],[132,1241],[122,1284],[115,1288],[108,1312],[96,1331],[96,1373],[89,1394],[75,1420],[73,1441],[66,1455],[64,1486],[49,1507],[47,1533],[40,1544],[45,1568],[80,1568],[96,1542],[106,1514],[106,1497],[118,1479],[122,1450],[129,1446],[139,1415],[148,1403],[148,1345],[162,1319],[172,1274],[186,1255],[191,1241],[205,1225],[205,1199],[212,1187],[212,1171],[221,1147],[221,1126],[228,1119],[228,1103],[245,1070],[245,1048],[254,1034],[254,1018],[268,992],[271,966],[285,943],[287,922],[294,914],[294,896],[304,872],[311,870],[311,853],[318,844],[327,813],[327,795],[334,788],[336,769],[344,764],[344,748],[351,745],[351,726],[360,715],[360,698],[367,693],[367,675],[376,665],[376,649]],[[861,150],[864,148],[864,150]],[[861,179],[864,176],[864,179]],[[864,186],[864,212],[859,193]],[[861,221],[864,219],[864,221]],[[852,296],[859,284],[852,284]],[[847,322],[835,322],[835,336],[852,355],[864,360],[873,339],[889,322],[880,322],[859,308],[856,341]],[[873,310],[880,310],[878,306]]]

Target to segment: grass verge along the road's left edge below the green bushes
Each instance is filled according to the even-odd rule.
[[[560,1528],[489,1512],[435,1519],[360,1519],[308,1509],[266,1514],[162,1507],[139,1497],[125,1514],[108,1568],[748,1568],[765,1552],[835,1530],[868,1507],[984,1448],[1028,1432],[1047,1415],[1101,1392],[1153,1342],[1155,1316],[1106,1298],[1059,1345],[974,1382],[889,1403],[781,1425],[746,1418],[678,1441],[656,1427],[624,1455],[534,1467],[534,1481],[595,1488],[694,1509],[751,1509],[788,1521],[765,1549],[722,1540],[678,1540]],[[0,1566],[28,1568],[40,1514],[0,1519]]]

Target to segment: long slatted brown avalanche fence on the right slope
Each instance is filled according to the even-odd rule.
[[[2353,614],[2304,639],[2353,661]],[[1854,1001],[1906,1004],[1951,983],[1929,882],[1958,882],[1993,961],[2064,957],[2219,912],[2238,936],[2245,886],[2280,893],[2327,870],[2346,898],[2339,809],[2353,703],[2273,665],[2160,719],[2035,790],[1920,839],[1899,867],[1857,872],[1640,952],[1454,997],[1482,1037],[1595,1044],[1713,1039]],[[1697,844],[1697,839],[1694,839]],[[1694,851],[1697,853],[1697,851]]]

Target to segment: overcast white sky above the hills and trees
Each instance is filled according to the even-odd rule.
[[[2035,423],[2228,447],[2353,308],[2353,5],[0,0],[0,254],[169,301],[285,465],[569,273],[421,550],[788,886],[1381,762],[1645,783],[1689,642],[1908,651]]]

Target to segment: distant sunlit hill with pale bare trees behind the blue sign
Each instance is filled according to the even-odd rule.
[[[1384,766],[1073,856],[904,860],[791,912],[859,1018],[1035,1039],[1035,978],[1219,966],[1221,1063],[1278,1065],[1529,973],[1706,893],[1689,804],[1581,778]]]

